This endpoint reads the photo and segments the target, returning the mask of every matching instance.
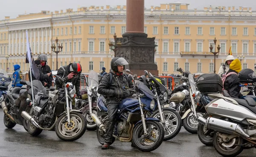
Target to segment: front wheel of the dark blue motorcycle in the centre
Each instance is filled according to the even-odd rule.
[[[133,143],[140,151],[154,151],[163,142],[164,129],[161,123],[156,121],[146,121],[147,134],[144,135],[143,123],[134,127]]]

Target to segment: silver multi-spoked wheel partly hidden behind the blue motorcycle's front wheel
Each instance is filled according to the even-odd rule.
[[[164,140],[170,140],[180,132],[182,120],[175,110],[169,108],[163,108],[163,115],[165,119]],[[151,117],[160,120],[159,112],[155,112]]]

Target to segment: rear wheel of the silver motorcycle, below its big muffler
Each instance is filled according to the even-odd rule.
[[[228,134],[215,132],[213,146],[218,154],[224,157],[235,157],[243,151],[243,147],[241,146],[243,144],[243,138],[236,136],[229,139],[228,136]]]

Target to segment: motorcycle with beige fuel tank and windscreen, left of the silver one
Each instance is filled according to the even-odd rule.
[[[203,104],[199,103],[201,95],[199,91],[196,91],[195,78],[192,74],[188,72],[184,73],[183,69],[179,67],[177,71],[182,73],[179,77],[185,84],[179,87],[182,91],[176,90],[176,93],[171,95],[169,107],[176,109],[180,114],[184,129],[187,132],[196,134],[198,128],[197,118],[203,116],[205,113]]]

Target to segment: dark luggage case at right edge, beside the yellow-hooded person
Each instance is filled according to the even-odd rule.
[[[241,84],[256,82],[256,74],[253,70],[246,68],[238,73],[238,79]]]

